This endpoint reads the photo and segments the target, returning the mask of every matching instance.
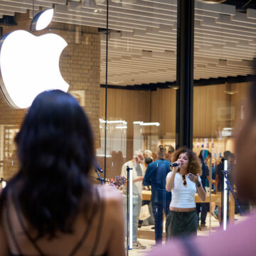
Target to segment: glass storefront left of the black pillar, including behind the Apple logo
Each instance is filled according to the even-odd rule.
[[[68,43],[60,55],[60,73],[90,118],[105,181],[125,175],[127,161],[134,168],[136,154],[142,157],[141,170],[134,170],[143,176],[144,160],[155,161],[160,144],[170,160],[168,151],[175,147],[176,1],[2,2],[1,36],[17,29],[30,31],[39,11],[54,9],[50,25],[33,33],[56,33]],[[0,102],[0,178],[9,180],[18,170],[13,139],[26,110],[12,109],[3,95]],[[142,188],[142,181],[137,184]],[[149,203],[151,191],[145,191],[139,198]],[[137,228],[142,244],[144,238],[154,244],[150,214],[151,222],[140,221],[142,228]],[[146,247],[149,250],[150,243]]]

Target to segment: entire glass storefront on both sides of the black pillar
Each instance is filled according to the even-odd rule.
[[[166,149],[164,158],[171,161],[178,90],[177,1],[1,1],[1,36],[17,29],[30,31],[31,18],[50,8],[54,9],[53,22],[34,36],[56,33],[68,43],[60,55],[60,73],[70,85],[68,92],[90,118],[97,164],[103,170],[99,175],[107,182],[119,175],[128,178],[129,164],[136,178],[144,176],[146,159],[157,160],[159,145]],[[255,28],[253,1],[195,1],[193,151],[201,153],[202,166],[209,169],[208,204],[198,205],[198,210],[206,212],[206,226],[199,226],[198,235],[208,235],[220,225],[215,210],[215,206],[221,208],[216,169],[225,151],[234,153],[235,124],[243,118],[242,102],[255,73]],[[14,136],[26,110],[11,108],[3,95],[0,105],[0,178],[8,181],[18,169]],[[235,155],[230,154],[228,160],[232,170]],[[96,173],[93,176],[99,178]],[[231,171],[228,178],[232,181]],[[142,180],[136,182],[133,188],[139,192],[130,195],[131,213],[140,220],[133,219],[133,230],[142,244],[138,246],[149,250],[155,238],[151,191],[142,186]],[[119,188],[124,209],[125,189],[125,185]],[[237,210],[232,198],[230,202],[232,221]],[[144,210],[135,214],[141,203]],[[248,202],[240,204],[249,207]]]

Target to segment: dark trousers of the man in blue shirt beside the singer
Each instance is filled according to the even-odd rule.
[[[156,243],[161,243],[163,238],[163,210],[167,218],[169,205],[171,200],[152,202],[154,221],[155,221],[155,240]]]

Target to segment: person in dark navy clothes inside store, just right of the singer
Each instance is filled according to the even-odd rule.
[[[198,156],[202,164],[201,166],[202,175],[200,176],[200,178],[201,178],[203,189],[205,191],[206,191],[206,183],[207,183],[207,180],[209,179],[209,169],[205,163],[205,159],[207,159],[208,157],[210,157],[210,152],[208,150],[201,150]],[[196,203],[196,211],[198,213],[198,222],[199,222],[199,214],[201,213],[201,216],[200,216],[201,225],[199,225],[198,223],[199,229],[206,227],[206,215],[207,215],[208,208],[209,208],[209,203]]]

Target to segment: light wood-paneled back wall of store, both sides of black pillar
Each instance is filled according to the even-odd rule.
[[[202,149],[201,144],[205,143],[205,139],[208,139],[209,148],[206,148],[205,143],[204,149],[216,153],[217,160],[224,150],[233,151],[233,139],[221,137],[221,132],[224,127],[233,128],[241,119],[240,105],[245,100],[249,85],[250,82],[244,82],[194,87],[193,143],[197,154]],[[105,88],[100,89],[100,117],[105,119]],[[119,175],[122,163],[132,158],[134,121],[159,122],[159,143],[170,144],[169,142],[175,141],[176,90],[158,89],[150,92],[109,88],[107,119],[122,119],[127,122],[127,158],[118,160],[118,168],[112,167],[112,157],[107,159],[107,176],[113,177]],[[147,131],[150,133],[150,128]],[[196,139],[200,144],[198,148]],[[212,139],[214,148],[211,148]],[[154,151],[155,148],[151,150]],[[102,159],[100,163],[104,163]]]

